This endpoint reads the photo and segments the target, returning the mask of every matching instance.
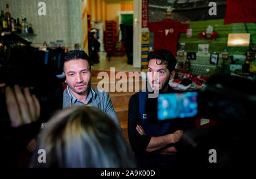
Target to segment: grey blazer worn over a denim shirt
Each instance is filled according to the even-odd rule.
[[[109,93],[106,91],[98,91],[97,89],[92,90],[92,106],[102,110],[102,112],[108,114],[115,124],[121,129],[120,123],[117,118],[117,114],[114,111],[113,104],[110,100]],[[72,96],[69,95],[68,90],[66,89],[63,92],[63,108],[67,108],[69,106],[73,106],[74,104],[71,103]]]

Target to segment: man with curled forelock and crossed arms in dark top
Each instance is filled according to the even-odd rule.
[[[176,92],[168,84],[175,76],[174,55],[168,50],[157,50],[148,54],[147,59],[148,88],[154,89],[154,93]],[[177,167],[177,142],[183,136],[183,122],[158,121],[157,98],[151,98],[148,91],[136,93],[129,102],[130,146],[139,167]]]

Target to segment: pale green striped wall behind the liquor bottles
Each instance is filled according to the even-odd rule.
[[[41,0],[1,0],[0,10],[6,11],[8,3],[13,18],[19,18],[20,23],[27,18],[37,35],[35,45],[64,40],[66,46],[73,49],[76,43],[82,44],[82,0],[44,0],[46,16],[38,15],[39,2]]]

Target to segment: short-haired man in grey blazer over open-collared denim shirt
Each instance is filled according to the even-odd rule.
[[[64,73],[68,87],[63,93],[63,108],[73,105],[95,106],[108,114],[121,128],[109,94],[90,87],[91,64],[90,58],[84,51],[72,50],[65,54]]]

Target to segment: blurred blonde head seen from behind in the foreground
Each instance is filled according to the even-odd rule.
[[[38,150],[46,163],[38,163]],[[75,106],[61,110],[47,123],[31,167],[135,167],[133,154],[113,120],[100,110]]]

